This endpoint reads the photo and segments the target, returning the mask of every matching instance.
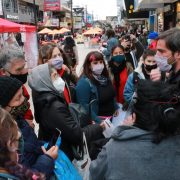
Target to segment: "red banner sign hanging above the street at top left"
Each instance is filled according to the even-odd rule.
[[[44,0],[44,11],[60,11],[60,0]]]

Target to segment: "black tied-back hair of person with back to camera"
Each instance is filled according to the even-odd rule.
[[[153,142],[180,134],[179,85],[140,80],[134,105],[134,126],[154,132]]]

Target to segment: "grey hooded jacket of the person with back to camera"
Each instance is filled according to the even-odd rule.
[[[180,136],[152,143],[153,132],[119,126],[90,166],[93,180],[179,180]]]

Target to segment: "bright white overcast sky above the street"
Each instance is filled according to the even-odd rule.
[[[106,16],[117,15],[116,2],[117,0],[73,0],[73,6],[85,7],[87,5],[87,11],[93,12],[95,19],[103,20]]]

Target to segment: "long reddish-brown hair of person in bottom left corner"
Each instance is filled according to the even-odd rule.
[[[36,176],[37,180],[44,180],[45,176],[38,172],[23,167],[22,165],[11,161],[7,142],[15,141],[18,136],[18,127],[11,115],[0,108],[0,167],[5,168],[10,174],[18,177],[20,180],[31,180]]]

